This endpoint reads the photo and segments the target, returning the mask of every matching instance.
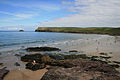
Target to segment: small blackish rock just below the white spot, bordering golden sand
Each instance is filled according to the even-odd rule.
[[[31,62],[30,63],[27,63],[26,64],[26,69],[30,69],[30,70],[33,70],[33,71],[36,71],[36,70],[39,70],[39,69],[43,69],[43,68],[45,68],[46,67],[46,65],[44,64],[44,63],[42,63],[42,64],[39,64],[39,63],[37,63],[37,64],[32,64]]]

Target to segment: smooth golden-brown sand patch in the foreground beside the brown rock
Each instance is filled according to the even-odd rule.
[[[47,72],[47,69],[37,71],[31,70],[12,70],[4,78],[4,80],[40,80]]]

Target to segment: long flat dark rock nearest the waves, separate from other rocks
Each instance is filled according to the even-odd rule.
[[[61,49],[54,47],[29,47],[26,50],[27,51],[60,51]]]

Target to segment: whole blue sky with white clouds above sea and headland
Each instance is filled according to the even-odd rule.
[[[120,27],[120,0],[0,0],[0,30]]]

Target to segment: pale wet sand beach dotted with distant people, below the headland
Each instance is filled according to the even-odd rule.
[[[88,56],[99,56],[99,53],[107,53],[112,60],[120,61],[120,37],[103,35],[97,39],[75,40],[66,43],[58,43],[51,45],[59,47],[64,52],[77,50],[80,54]]]

